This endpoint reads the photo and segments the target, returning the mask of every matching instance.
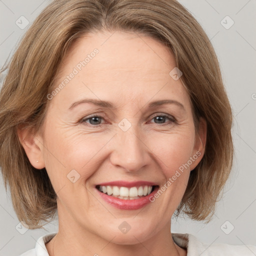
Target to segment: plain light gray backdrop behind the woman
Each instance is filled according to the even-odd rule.
[[[30,23],[49,0],[0,0],[0,66],[11,54],[27,27],[21,29],[20,16]],[[172,232],[191,233],[202,242],[256,245],[256,0],[179,0],[206,31],[217,56],[227,94],[235,116],[232,134],[235,159],[232,173],[208,224],[188,218],[172,219]],[[228,15],[230,19],[221,20]],[[226,24],[224,24],[224,23]],[[29,23],[29,24],[30,24]],[[22,22],[24,24],[24,20]],[[3,77],[0,77],[2,79]],[[57,220],[43,230],[16,230],[19,221],[9,192],[0,178],[0,256],[18,255],[35,246],[36,239],[57,231]],[[233,230],[232,230],[233,229]],[[248,253],[253,254],[248,250]]]

